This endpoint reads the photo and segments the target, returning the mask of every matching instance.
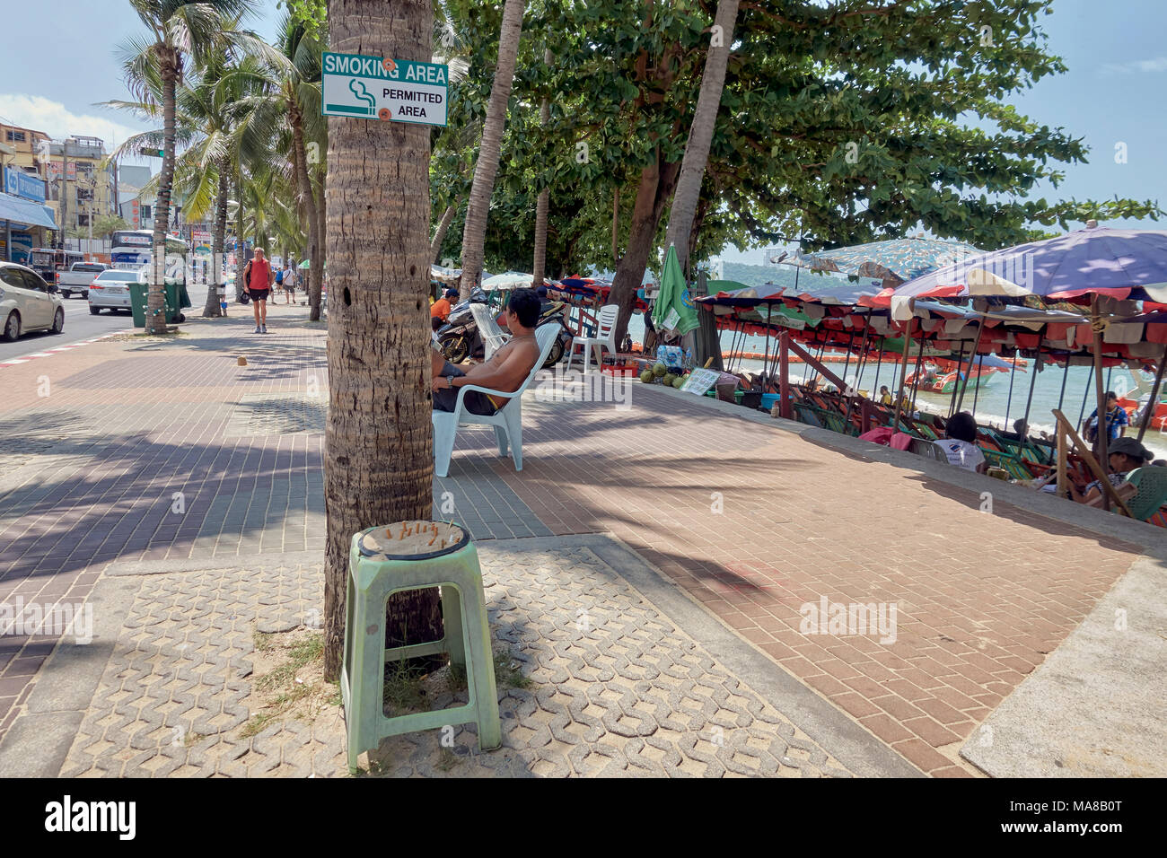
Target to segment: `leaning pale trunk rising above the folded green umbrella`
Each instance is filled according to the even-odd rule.
[[[710,145],[713,141],[713,126],[717,124],[718,109],[721,106],[721,89],[726,82],[726,64],[729,61],[729,46],[733,44],[733,28],[738,20],[738,0],[719,0],[718,12],[713,19],[714,30],[710,41],[710,53],[705,60],[705,74],[701,76],[701,91],[697,97],[697,113],[689,131],[689,142],[685,144],[685,158],[680,163],[680,179],[677,180],[677,196],[669,214],[669,229],[664,244],[677,249],[677,261],[680,270],[689,265],[689,238],[697,211],[697,200],[701,195],[701,180],[705,177],[705,165],[710,158]]]

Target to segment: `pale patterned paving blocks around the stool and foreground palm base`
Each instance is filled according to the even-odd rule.
[[[378,774],[850,774],[587,547],[488,542],[480,558],[496,650],[531,681],[499,691],[503,746],[478,753],[473,725],[445,754],[441,731],[396,737],[369,755]],[[139,580],[63,776],[348,774],[335,706],[239,738],[257,705],[254,633],[312,622],[319,567]]]

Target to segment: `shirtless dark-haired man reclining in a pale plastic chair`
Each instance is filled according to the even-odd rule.
[[[431,370],[435,411],[453,411],[457,404],[457,389],[474,384],[490,390],[513,392],[519,389],[531,368],[539,360],[539,344],[534,339],[534,327],[539,321],[541,304],[534,290],[515,290],[506,302],[506,327],[510,341],[499,348],[489,361],[471,367],[463,372],[446,361],[441,353],[431,355]],[[466,379],[464,384],[459,384]],[[466,391],[462,404],[471,414],[494,414],[510,399],[491,397],[477,390]]]

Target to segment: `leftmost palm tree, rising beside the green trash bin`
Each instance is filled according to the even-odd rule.
[[[163,249],[170,226],[174,182],[175,89],[186,74],[187,57],[193,57],[196,64],[204,64],[211,54],[222,51],[229,42],[226,22],[250,12],[253,4],[251,0],[130,0],[130,5],[149,33],[130,40],[123,48],[127,55],[123,65],[126,85],[139,102],[161,100],[162,109],[162,169],[154,214],[154,264],[151,266],[146,330],[165,334]]]

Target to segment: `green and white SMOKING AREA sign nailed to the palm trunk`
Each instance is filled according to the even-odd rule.
[[[446,125],[449,74],[438,63],[324,54],[326,117]]]

